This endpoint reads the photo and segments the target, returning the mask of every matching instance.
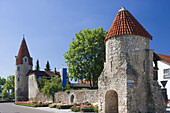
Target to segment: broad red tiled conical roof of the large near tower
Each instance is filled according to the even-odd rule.
[[[133,17],[133,15],[124,7],[121,7],[105,38],[105,42],[113,36],[125,34],[139,35],[152,39],[152,36]]]

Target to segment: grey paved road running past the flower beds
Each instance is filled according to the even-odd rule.
[[[14,103],[0,103],[0,113],[75,113],[70,110],[58,110],[49,107],[26,107],[15,105]],[[167,108],[170,113],[170,108]]]

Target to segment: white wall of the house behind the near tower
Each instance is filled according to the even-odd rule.
[[[163,88],[162,84],[160,81],[165,81],[167,80],[167,84],[166,84],[166,87],[167,88],[167,95],[168,95],[168,99],[170,99],[170,78],[169,79],[164,79],[164,69],[168,69],[170,68],[170,65],[162,62],[162,61],[158,61],[158,83],[159,85],[161,86],[161,88]]]

